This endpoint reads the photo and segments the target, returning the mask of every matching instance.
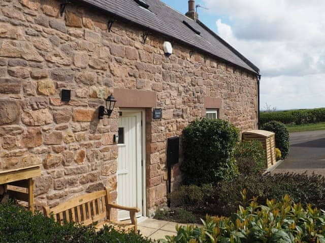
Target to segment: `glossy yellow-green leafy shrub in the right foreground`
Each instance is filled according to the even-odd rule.
[[[242,192],[246,197],[245,191]],[[176,226],[168,243],[325,242],[325,212],[295,204],[286,195],[278,203],[258,205],[254,198],[230,218],[206,217],[203,227]]]

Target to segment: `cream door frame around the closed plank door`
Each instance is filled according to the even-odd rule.
[[[125,113],[141,112],[141,159],[142,159],[142,217],[146,217],[146,110],[141,108],[119,108],[119,111]],[[118,192],[117,192],[118,193]]]

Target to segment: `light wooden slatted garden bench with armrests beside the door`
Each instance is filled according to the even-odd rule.
[[[53,208],[44,207],[44,214],[48,217],[53,214],[54,220],[61,224],[64,220],[75,222],[82,225],[96,224],[100,229],[104,225],[113,226],[115,229],[125,229],[130,231],[134,229],[137,232],[136,213],[140,212],[138,208],[123,207],[110,202],[109,188],[103,191],[92,192],[72,198]],[[129,211],[131,223],[114,221],[110,219],[111,209],[120,209]]]

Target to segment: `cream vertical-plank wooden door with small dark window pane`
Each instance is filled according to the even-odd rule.
[[[142,210],[141,112],[122,111],[118,126],[117,203]],[[125,219],[129,219],[129,213],[119,210],[118,220]]]

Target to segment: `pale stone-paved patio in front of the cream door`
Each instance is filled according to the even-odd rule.
[[[177,223],[157,220],[157,219],[145,219],[138,223],[138,229],[140,233],[144,236],[147,236],[151,239],[165,239],[166,235],[176,235],[176,226]],[[186,224],[178,224],[186,225]]]

